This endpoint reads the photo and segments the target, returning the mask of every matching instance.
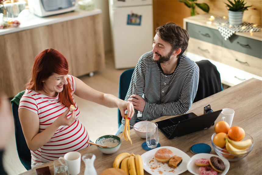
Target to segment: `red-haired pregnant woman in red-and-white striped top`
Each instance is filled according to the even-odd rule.
[[[129,118],[134,114],[132,103],[96,91],[68,72],[66,58],[53,48],[35,57],[32,75],[18,109],[31,151],[32,168],[89,146],[89,135],[79,120],[80,109],[74,95],[110,108],[117,107],[123,117],[125,110]],[[72,112],[69,112],[70,105],[75,106]]]

